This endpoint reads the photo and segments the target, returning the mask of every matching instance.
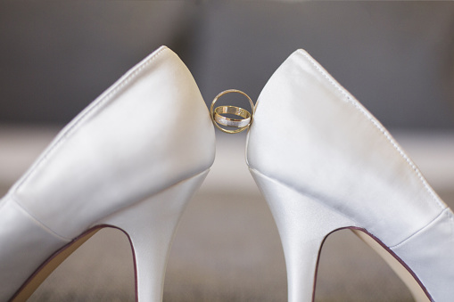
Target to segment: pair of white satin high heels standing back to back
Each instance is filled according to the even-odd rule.
[[[137,300],[161,300],[173,233],[214,150],[194,79],[162,46],[74,118],[0,201],[0,300],[29,298],[103,227],[128,235]],[[293,53],[260,94],[246,160],[281,236],[289,301],[313,299],[319,250],[343,228],[418,301],[454,299],[450,208],[308,53]]]

